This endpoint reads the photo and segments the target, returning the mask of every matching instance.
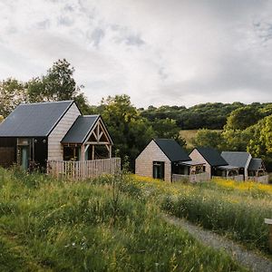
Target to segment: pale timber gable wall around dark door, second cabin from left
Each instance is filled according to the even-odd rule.
[[[151,141],[136,159],[135,174],[152,178],[153,161],[164,161],[164,180],[171,181],[171,162],[155,141]]]

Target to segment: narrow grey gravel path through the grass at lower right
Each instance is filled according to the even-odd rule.
[[[227,253],[236,259],[238,263],[248,267],[252,271],[272,272],[272,261],[242,248],[228,238],[224,238],[212,231],[200,228],[185,219],[179,219],[165,214],[163,214],[162,217],[171,224],[186,229],[193,237],[199,239],[203,244],[227,251]]]

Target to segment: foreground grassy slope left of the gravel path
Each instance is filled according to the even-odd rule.
[[[0,169],[0,271],[244,270],[107,181]]]

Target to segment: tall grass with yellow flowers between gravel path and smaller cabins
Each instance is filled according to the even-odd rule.
[[[264,219],[272,218],[270,185],[225,180],[196,185],[168,184],[131,176],[123,190],[137,194],[138,198],[153,199],[160,209],[172,215],[268,253]]]

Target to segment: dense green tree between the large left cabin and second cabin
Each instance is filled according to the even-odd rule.
[[[99,108],[112,136],[113,148],[120,151],[121,159],[129,156],[132,166],[154,135],[150,122],[140,116],[125,94],[102,99]]]

